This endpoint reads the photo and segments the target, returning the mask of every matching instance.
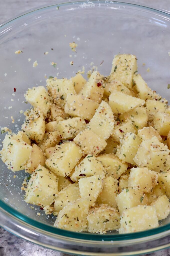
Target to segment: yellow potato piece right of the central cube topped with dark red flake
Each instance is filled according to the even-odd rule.
[[[116,179],[118,179],[122,173],[126,172],[128,167],[127,163],[123,163],[114,154],[99,155],[97,156],[97,159],[101,161],[108,175],[113,176]]]

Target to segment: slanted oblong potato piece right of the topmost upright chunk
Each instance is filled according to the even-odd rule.
[[[140,99],[142,100],[154,99],[153,91],[149,88],[149,86],[143,80],[140,74],[133,75],[133,84],[135,86],[136,91],[138,92]]]

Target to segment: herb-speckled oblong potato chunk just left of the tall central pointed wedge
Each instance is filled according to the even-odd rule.
[[[68,140],[74,138],[79,132],[86,129],[86,122],[81,117],[69,118],[56,125],[60,138]]]

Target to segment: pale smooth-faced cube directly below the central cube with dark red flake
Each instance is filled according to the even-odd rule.
[[[82,198],[88,197],[90,205],[96,201],[103,188],[103,175],[93,175],[79,179],[79,190]]]

